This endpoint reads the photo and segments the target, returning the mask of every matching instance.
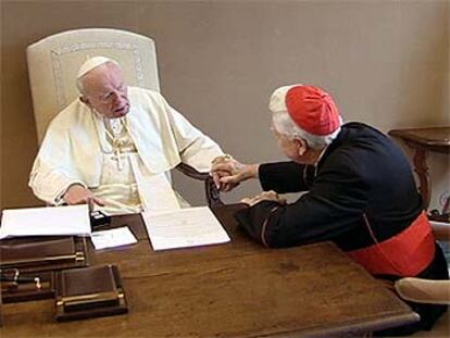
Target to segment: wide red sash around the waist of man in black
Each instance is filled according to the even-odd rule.
[[[416,276],[435,258],[435,237],[428,217],[422,212],[400,234],[378,243],[347,252],[357,263],[374,275]]]

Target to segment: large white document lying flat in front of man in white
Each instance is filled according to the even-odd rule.
[[[143,212],[142,218],[155,251],[216,245],[230,240],[208,206]]]

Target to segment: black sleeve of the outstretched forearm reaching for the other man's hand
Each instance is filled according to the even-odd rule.
[[[265,163],[260,165],[259,176],[264,191],[305,191],[314,179],[314,166],[296,162]]]

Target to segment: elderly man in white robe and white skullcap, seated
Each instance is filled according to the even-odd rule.
[[[96,57],[77,75],[80,97],[51,122],[29,186],[49,204],[93,202],[108,214],[178,209],[170,170],[209,172],[222,155],[155,91],[128,87],[114,60]]]

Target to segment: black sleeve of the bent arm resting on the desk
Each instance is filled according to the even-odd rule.
[[[258,242],[291,247],[332,240],[360,224],[366,200],[366,187],[350,170],[332,170],[295,203],[263,201],[239,211],[236,218]]]

